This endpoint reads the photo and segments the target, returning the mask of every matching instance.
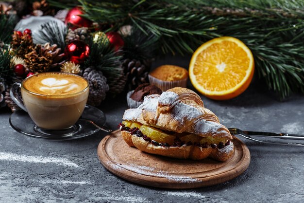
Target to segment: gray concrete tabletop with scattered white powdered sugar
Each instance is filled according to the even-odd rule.
[[[186,67],[188,58],[170,57],[154,66],[164,63]],[[280,102],[255,81],[229,101],[202,98],[228,128],[304,134],[303,96]],[[126,108],[123,96],[100,107],[113,129]],[[245,140],[251,163],[236,179],[198,189],[158,189],[120,179],[100,164],[96,149],[105,136],[102,132],[65,142],[35,139],[14,131],[8,122],[10,112],[0,111],[0,203],[304,202],[304,147]]]

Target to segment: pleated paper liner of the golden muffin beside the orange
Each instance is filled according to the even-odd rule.
[[[176,80],[176,81],[164,81],[164,80],[157,79],[157,78],[151,76],[150,74],[148,76],[149,76],[150,84],[159,87],[163,92],[165,92],[171,88],[175,88],[175,87],[186,88],[186,86],[187,86],[188,78]]]

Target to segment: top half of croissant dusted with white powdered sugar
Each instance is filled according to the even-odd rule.
[[[232,139],[229,130],[220,124],[218,117],[204,108],[199,95],[186,88],[177,87],[161,95],[146,96],[137,109],[125,111],[123,120],[179,133]]]

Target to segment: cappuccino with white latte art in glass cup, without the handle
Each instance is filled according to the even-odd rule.
[[[34,123],[43,129],[73,126],[84,111],[88,93],[88,82],[75,74],[36,74],[21,85],[25,108]]]

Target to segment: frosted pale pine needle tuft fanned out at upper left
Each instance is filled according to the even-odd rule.
[[[68,28],[66,25],[59,25],[56,21],[50,21],[41,25],[39,33],[33,34],[33,40],[37,44],[45,44],[47,42],[50,42],[51,45],[57,44],[61,50],[64,50],[67,33]]]

